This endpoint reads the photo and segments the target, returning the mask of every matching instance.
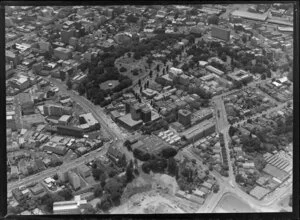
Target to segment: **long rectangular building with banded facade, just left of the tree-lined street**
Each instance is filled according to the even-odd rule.
[[[206,137],[214,133],[215,130],[215,122],[213,120],[206,120],[187,129],[184,132],[181,132],[180,136],[189,143],[192,143],[202,137]]]

